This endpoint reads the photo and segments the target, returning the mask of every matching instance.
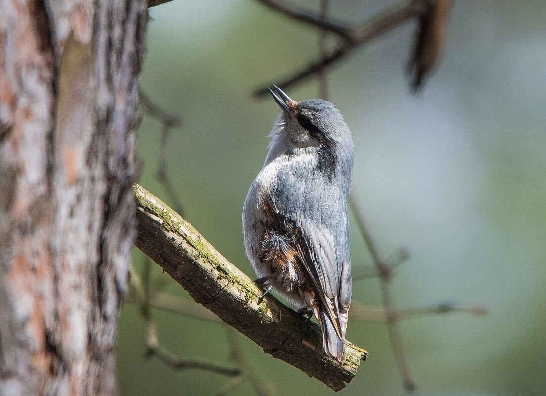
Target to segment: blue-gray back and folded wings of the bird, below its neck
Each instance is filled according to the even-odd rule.
[[[299,231],[296,248],[324,313],[342,340],[352,292],[347,191],[284,170],[270,194],[275,211]]]

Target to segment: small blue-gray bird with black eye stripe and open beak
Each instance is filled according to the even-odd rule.
[[[272,86],[282,111],[243,206],[245,250],[263,295],[272,289],[308,319],[316,317],[325,354],[344,363],[352,293],[351,131],[329,101],[298,102]]]

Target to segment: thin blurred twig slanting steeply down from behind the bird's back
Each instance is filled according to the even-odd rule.
[[[405,357],[404,347],[402,344],[402,339],[400,337],[400,330],[398,327],[396,311],[393,309],[392,293],[390,291],[390,281],[392,278],[392,271],[387,264],[381,260],[381,255],[375,241],[371,236],[370,231],[367,228],[366,222],[364,220],[364,214],[358,206],[357,196],[354,189],[351,191],[351,206],[355,214],[359,229],[361,234],[364,237],[364,241],[370,251],[373,262],[377,267],[377,271],[381,275],[381,295],[383,299],[383,305],[385,307],[385,314],[387,315],[387,331],[389,334],[390,344],[393,349],[393,355],[396,361],[396,366],[402,377],[403,385],[406,391],[411,392],[416,389],[416,385],[411,379],[410,369]]]

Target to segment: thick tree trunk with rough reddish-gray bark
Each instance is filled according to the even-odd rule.
[[[0,0],[0,395],[114,395],[143,0]]]

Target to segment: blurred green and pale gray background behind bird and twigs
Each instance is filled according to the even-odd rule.
[[[313,9],[318,3],[298,2]],[[396,4],[330,3],[332,15],[353,22]],[[252,0],[176,0],[150,14],[142,86],[183,117],[170,137],[168,172],[185,217],[254,278],[242,241],[242,203],[279,109],[251,92],[316,59],[316,30]],[[418,394],[544,395],[546,2],[460,0],[451,15],[443,62],[420,94],[410,94],[403,73],[412,22],[329,70],[329,99],[353,132],[353,182],[379,248],[387,257],[400,247],[411,253],[393,283],[396,308],[449,301],[490,311],[401,322]],[[318,84],[310,80],[287,93],[317,97]],[[160,136],[161,124],[145,116],[137,142],[140,183],[173,203],[155,176]],[[369,267],[354,219],[350,226],[353,269]],[[141,267],[136,249],[133,261]],[[353,289],[353,301],[381,304],[378,279]],[[174,281],[166,291],[187,297]],[[179,356],[234,366],[220,324],[162,311],[154,317],[162,343]],[[350,321],[347,338],[370,358],[342,394],[405,393],[382,323]],[[242,335],[240,342],[276,394],[334,393]],[[139,310],[125,303],[117,351],[123,395],[212,395],[230,381],[174,371],[146,360],[145,350]],[[231,394],[255,392],[245,382]]]

